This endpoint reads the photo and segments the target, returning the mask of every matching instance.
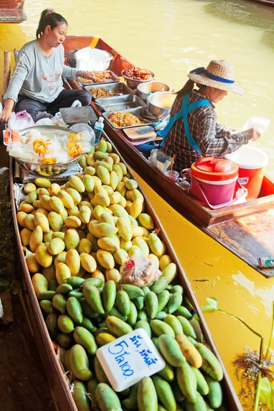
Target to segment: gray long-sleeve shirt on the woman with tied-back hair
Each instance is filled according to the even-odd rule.
[[[46,57],[37,40],[24,45],[16,59],[16,66],[4,99],[17,101],[18,95],[51,103],[63,89],[62,76],[73,78],[76,69],[64,65],[64,47],[60,45]]]

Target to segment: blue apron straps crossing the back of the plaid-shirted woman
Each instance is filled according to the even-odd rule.
[[[190,112],[192,112],[193,110],[195,110],[195,108],[198,107],[203,107],[205,105],[211,105],[210,102],[206,99],[203,100],[197,100],[194,101],[193,103],[188,104],[188,100],[189,100],[189,93],[186,94],[183,98],[182,101],[182,110],[180,110],[179,112],[177,112],[175,114],[175,116],[173,116],[173,118],[169,121],[169,124],[166,125],[166,127],[164,127],[164,129],[162,130],[162,132],[160,132],[160,136],[162,136],[162,141],[160,142],[159,147],[162,147],[162,145],[164,144],[164,139],[166,138],[166,136],[169,134],[169,132],[171,131],[171,127],[173,126],[173,124],[175,123],[175,121],[179,120],[179,119],[184,119],[184,132],[186,134],[186,139],[188,140],[188,143],[190,145],[190,147],[192,147],[192,149],[194,149],[195,151],[197,151],[197,153],[200,152],[199,150],[199,145],[197,145],[197,142],[194,140],[194,138],[192,137],[192,135],[190,134],[190,129],[188,127],[188,114]]]

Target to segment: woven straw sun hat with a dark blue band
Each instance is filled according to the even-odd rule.
[[[190,71],[188,77],[192,82],[234,92],[240,96],[245,94],[242,86],[235,82],[234,67],[225,60],[211,60],[207,68],[199,67]]]

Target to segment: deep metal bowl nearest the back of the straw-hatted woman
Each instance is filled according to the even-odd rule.
[[[177,95],[170,91],[154,92],[147,97],[149,112],[158,119],[163,119],[171,111]]]

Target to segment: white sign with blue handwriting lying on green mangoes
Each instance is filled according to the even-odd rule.
[[[123,391],[143,377],[161,371],[165,362],[145,329],[138,328],[97,350],[112,388]]]

